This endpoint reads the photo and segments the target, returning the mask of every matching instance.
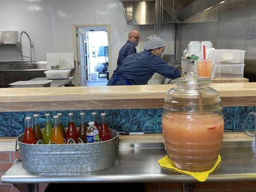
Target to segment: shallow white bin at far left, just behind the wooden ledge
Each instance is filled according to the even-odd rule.
[[[21,88],[21,87],[50,87],[52,80],[43,80],[43,81],[17,81],[15,83],[9,84],[12,88]]]

